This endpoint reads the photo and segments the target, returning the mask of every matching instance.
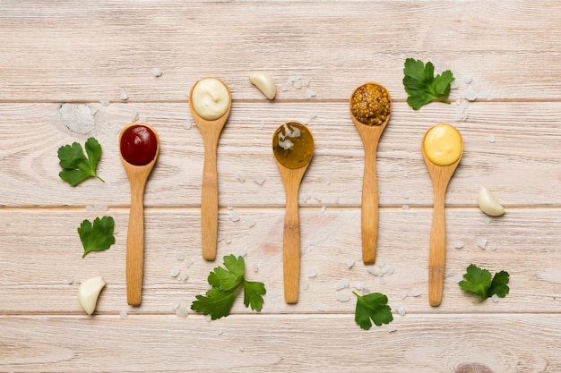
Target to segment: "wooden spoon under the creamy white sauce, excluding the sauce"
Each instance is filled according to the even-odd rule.
[[[200,81],[203,81],[203,78]],[[211,78],[220,81],[218,78]],[[189,109],[193,115],[194,122],[199,127],[204,143],[204,165],[203,165],[203,190],[201,192],[201,240],[203,245],[203,259],[216,259],[216,245],[218,242],[218,170],[216,156],[218,140],[224,124],[228,120],[232,95],[228,86],[229,106],[225,114],[215,120],[204,119],[197,113],[193,104],[193,90],[197,81],[189,93]]]

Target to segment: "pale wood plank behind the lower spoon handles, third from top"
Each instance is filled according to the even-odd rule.
[[[232,221],[231,212],[238,214],[238,221]],[[444,300],[438,308],[427,303],[431,214],[428,208],[382,208],[374,267],[360,261],[359,208],[303,208],[300,300],[289,306],[282,295],[282,209],[220,210],[218,260],[206,262],[201,256],[197,209],[150,208],[145,217],[142,306],[131,308],[125,296],[127,209],[2,209],[0,314],[82,314],[79,285],[70,283],[91,276],[103,276],[108,283],[99,300],[99,314],[122,310],[173,314],[172,303],[179,301],[189,309],[194,296],[206,292],[207,276],[229,254],[245,255],[247,278],[265,284],[265,314],[348,313],[355,307],[352,291],[361,289],[384,292],[394,309],[402,306],[410,313],[558,311],[561,209],[516,208],[492,220],[476,208],[447,209]],[[82,259],[76,228],[83,219],[104,215],[116,219],[117,242],[107,251]],[[487,241],[485,249],[479,247],[479,240]],[[464,247],[454,249],[454,242],[463,242]],[[354,260],[351,268],[348,259]],[[492,273],[509,272],[511,293],[496,303],[473,304],[474,297],[456,284],[472,263]],[[185,281],[171,276],[176,268],[188,275]],[[375,276],[376,268],[393,274]],[[412,296],[415,291],[419,297]],[[233,311],[253,313],[239,300]]]

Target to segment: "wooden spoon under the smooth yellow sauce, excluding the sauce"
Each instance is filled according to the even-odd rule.
[[[427,155],[426,143],[427,134],[436,126],[449,126],[450,130],[457,131],[459,135],[459,155],[453,163],[449,165],[436,165]],[[442,301],[442,292],[444,287],[444,262],[446,255],[446,219],[444,216],[444,197],[448,183],[452,175],[462,159],[463,140],[460,131],[456,130],[450,124],[439,123],[428,129],[421,142],[421,152],[425,165],[427,165],[428,174],[433,183],[435,194],[435,203],[433,210],[433,222],[430,229],[430,250],[428,254],[428,303],[436,307]]]

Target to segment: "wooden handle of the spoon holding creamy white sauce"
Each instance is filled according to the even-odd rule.
[[[203,259],[216,259],[218,242],[218,170],[216,165],[218,138],[205,141],[203,189],[201,191],[201,240]]]

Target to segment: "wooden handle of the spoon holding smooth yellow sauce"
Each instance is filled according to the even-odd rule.
[[[445,190],[435,189],[433,223],[430,228],[428,253],[428,304],[440,305],[444,287],[444,261],[446,256],[446,220],[444,216]]]

